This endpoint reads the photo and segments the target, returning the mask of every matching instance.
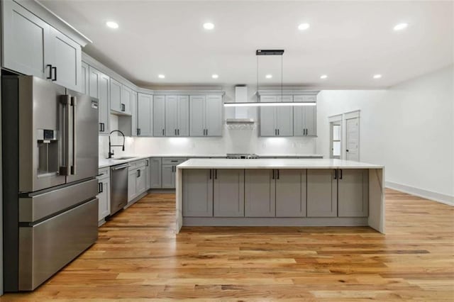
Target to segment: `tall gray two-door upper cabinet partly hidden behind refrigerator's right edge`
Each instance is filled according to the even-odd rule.
[[[99,100],[99,133],[109,134],[109,76],[89,67],[89,96]]]

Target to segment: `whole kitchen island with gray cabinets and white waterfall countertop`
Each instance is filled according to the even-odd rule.
[[[365,226],[384,233],[384,167],[347,160],[192,159],[177,166],[184,225]]]

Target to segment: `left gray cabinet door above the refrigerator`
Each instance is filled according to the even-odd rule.
[[[47,47],[50,26],[14,1],[3,4],[3,55],[5,68],[45,79],[51,72]]]

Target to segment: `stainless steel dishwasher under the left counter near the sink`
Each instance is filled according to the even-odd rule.
[[[118,164],[111,167],[111,215],[128,204],[128,167],[131,164]]]

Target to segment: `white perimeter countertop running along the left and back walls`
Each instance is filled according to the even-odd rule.
[[[184,157],[184,158],[197,158],[197,157],[226,157],[226,154],[153,154],[153,155],[125,155],[128,157],[134,157],[128,160],[116,160],[116,159],[106,159],[99,158],[98,168],[105,168],[110,166],[115,166],[116,164],[124,164],[126,162],[133,162],[135,160],[143,160],[149,157]],[[323,155],[318,154],[260,154],[260,157],[323,157]]]

